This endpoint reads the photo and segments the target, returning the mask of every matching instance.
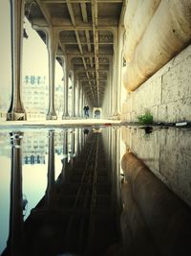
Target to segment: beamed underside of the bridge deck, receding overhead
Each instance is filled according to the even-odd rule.
[[[44,32],[53,33],[57,60],[63,65],[65,59],[93,106],[103,105],[122,4],[122,0],[28,0],[25,7],[32,27],[45,42]]]

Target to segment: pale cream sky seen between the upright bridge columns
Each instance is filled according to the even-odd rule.
[[[25,19],[29,38],[23,38],[23,68],[22,77],[26,75],[46,76],[48,83],[48,51],[31,24]],[[55,61],[55,84],[62,84],[63,71]],[[0,0],[0,101],[9,102],[11,95],[11,14],[10,1]]]

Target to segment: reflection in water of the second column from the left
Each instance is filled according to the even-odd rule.
[[[54,192],[54,130],[49,131],[48,183],[46,191],[46,205],[53,205]]]

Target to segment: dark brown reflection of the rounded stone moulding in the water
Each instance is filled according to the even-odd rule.
[[[132,152],[121,160],[125,255],[191,255],[191,211]]]

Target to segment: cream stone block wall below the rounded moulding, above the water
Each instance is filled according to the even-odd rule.
[[[137,121],[149,109],[156,122],[191,121],[191,45],[134,92],[127,92],[122,120]]]

